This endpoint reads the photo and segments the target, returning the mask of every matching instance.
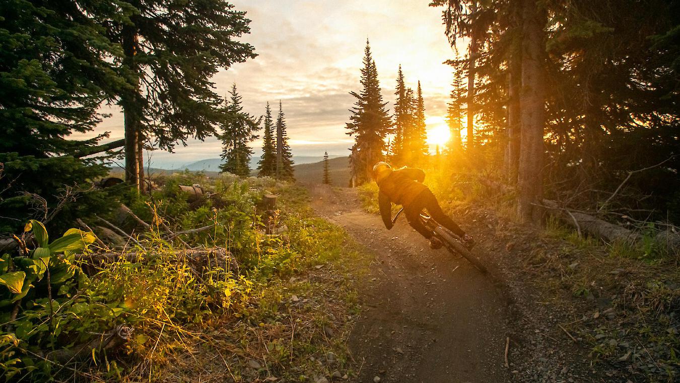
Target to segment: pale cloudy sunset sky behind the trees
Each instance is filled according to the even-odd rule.
[[[407,86],[421,82],[431,150],[441,140],[452,68],[443,61],[455,56],[441,24],[441,8],[429,0],[233,0],[236,10],[252,20],[249,35],[240,41],[255,47],[255,59],[222,70],[213,78],[217,92],[226,95],[236,84],[245,112],[260,116],[267,101],[277,110],[283,104],[289,144],[296,156],[347,155],[353,138],[345,133],[366,40],[388,107],[394,103],[396,73],[401,64]],[[94,135],[109,131],[109,140],[123,138],[122,113],[116,106]],[[154,167],[181,167],[219,157],[215,137],[189,140],[174,153],[154,150]],[[259,156],[262,142],[252,146]],[[145,160],[145,162],[148,160]]]

